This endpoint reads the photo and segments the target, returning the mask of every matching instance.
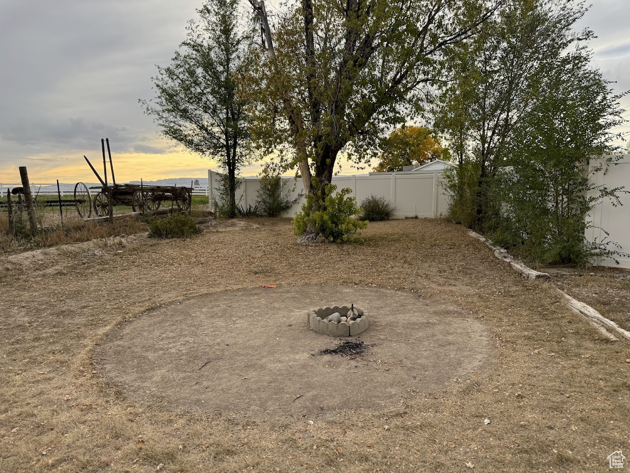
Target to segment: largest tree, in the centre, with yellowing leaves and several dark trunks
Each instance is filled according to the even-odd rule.
[[[250,1],[264,13],[262,2]],[[323,202],[339,154],[364,161],[363,151],[387,129],[418,115],[426,85],[440,79],[444,50],[492,12],[490,0],[288,6],[273,31],[265,27],[269,54],[258,57],[251,76],[256,140],[281,151],[285,168],[299,165],[311,200]]]

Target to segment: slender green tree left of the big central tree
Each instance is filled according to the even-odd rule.
[[[238,23],[238,5],[238,0],[203,4],[171,64],[157,66],[156,97],[140,100],[164,136],[219,162],[230,217],[236,216],[236,176],[251,156],[241,78],[251,62],[253,37]]]

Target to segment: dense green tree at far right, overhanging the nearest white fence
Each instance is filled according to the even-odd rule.
[[[588,242],[585,230],[593,207],[602,199],[620,204],[622,189],[597,184],[586,171],[593,156],[608,154],[612,164],[621,157],[610,154],[621,151],[610,145],[619,137],[610,130],[626,120],[621,96],[590,59],[578,48],[532,79],[536,101],[513,130],[508,167],[495,186],[501,202],[495,235],[527,259],[585,264],[611,255],[607,242]]]

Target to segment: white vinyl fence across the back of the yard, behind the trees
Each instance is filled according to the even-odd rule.
[[[208,187],[210,194],[217,195],[221,189],[221,175],[208,170]],[[441,184],[442,172],[416,173],[392,172],[370,173],[369,175],[335,176],[333,184],[337,190],[348,187],[352,190],[352,197],[356,197],[360,204],[370,195],[382,196],[396,207],[396,218],[404,217],[437,217],[446,214],[448,210],[447,196]],[[241,178],[241,187],[237,190],[236,201],[239,206],[247,209],[255,206],[258,200],[260,180],[258,177]],[[292,196],[304,194],[301,179],[292,177],[282,178],[283,188],[290,190]],[[210,198],[210,210],[214,211]],[[299,212],[306,201],[304,196],[284,213],[285,217],[292,217]]]

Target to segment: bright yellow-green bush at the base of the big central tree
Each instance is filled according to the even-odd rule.
[[[336,185],[328,184],[323,202],[316,194],[306,195],[306,204],[293,221],[295,235],[310,234],[312,239],[341,243],[352,240],[358,230],[367,226],[366,221],[353,218],[358,214],[357,201],[346,197],[352,190],[341,189],[333,196],[336,189]]]

